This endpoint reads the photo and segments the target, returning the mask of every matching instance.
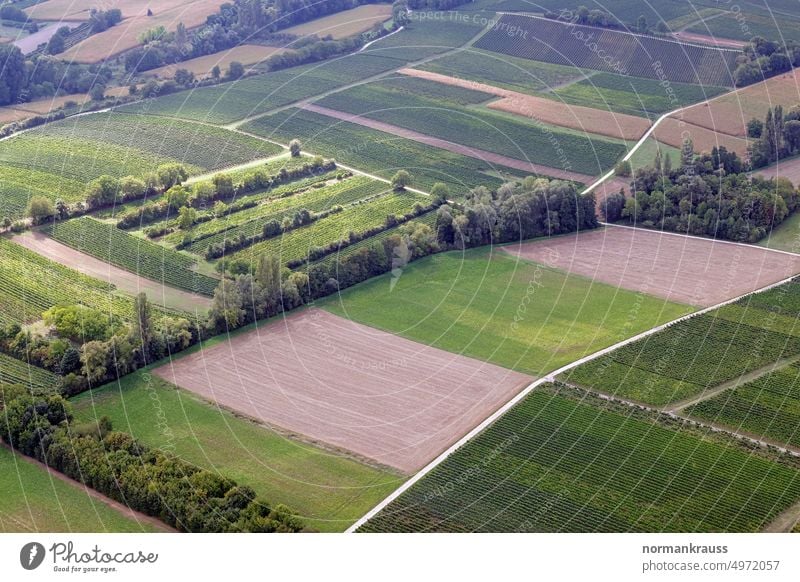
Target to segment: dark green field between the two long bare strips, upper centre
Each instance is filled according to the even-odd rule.
[[[612,167],[625,152],[619,142],[442,103],[380,83],[334,93],[320,104],[524,162],[563,168],[566,158],[572,170],[588,175]]]

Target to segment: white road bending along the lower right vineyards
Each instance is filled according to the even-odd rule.
[[[431,461],[430,463],[425,465],[425,467],[423,467],[419,472],[417,472],[414,476],[412,476],[408,481],[406,481],[400,487],[398,487],[395,491],[393,491],[386,499],[381,501],[377,506],[372,508],[366,515],[364,515],[362,518],[360,518],[358,521],[356,521],[353,525],[351,525],[349,528],[347,528],[345,533],[355,533],[355,531],[358,528],[360,528],[362,525],[364,525],[370,519],[375,517],[378,513],[383,511],[383,509],[385,509],[392,501],[394,501],[395,499],[400,497],[400,495],[402,495],[403,493],[408,491],[413,485],[415,485],[418,481],[420,481],[423,477],[425,477],[425,475],[430,473],[438,465],[440,465],[442,462],[444,462],[445,459],[447,459],[450,455],[452,455],[454,452],[456,452],[458,449],[460,449],[466,443],[471,441],[473,438],[478,436],[480,433],[482,433],[489,426],[494,424],[494,422],[496,420],[498,420],[501,416],[503,416],[511,408],[513,408],[520,401],[522,401],[525,397],[527,397],[531,392],[533,392],[534,389],[536,389],[537,387],[541,386],[542,384],[546,384],[546,383],[550,383],[550,382],[555,381],[556,376],[558,376],[560,374],[563,374],[564,372],[567,372],[567,371],[569,371],[569,370],[571,370],[573,368],[577,368],[578,366],[580,366],[582,364],[585,364],[586,362],[590,362],[592,360],[596,360],[597,358],[600,358],[600,357],[602,357],[602,356],[604,356],[604,355],[606,355],[606,354],[608,354],[610,352],[613,352],[613,351],[615,351],[615,350],[617,350],[617,349],[619,349],[621,347],[624,347],[624,346],[626,346],[628,344],[631,344],[633,342],[639,341],[639,340],[644,339],[646,337],[649,337],[649,336],[651,336],[653,334],[656,334],[656,333],[658,333],[660,331],[663,331],[666,328],[670,327],[671,325],[675,325],[676,323],[680,323],[682,321],[689,320],[689,319],[691,319],[693,317],[699,317],[700,315],[705,315],[706,313],[714,311],[715,309],[719,309],[720,307],[724,307],[725,305],[729,305],[731,303],[735,303],[736,301],[739,301],[740,299],[743,299],[744,297],[747,297],[748,295],[755,295],[756,293],[764,293],[766,291],[769,291],[770,289],[774,289],[775,287],[779,287],[781,285],[789,283],[794,278],[795,278],[795,275],[793,275],[791,277],[787,277],[786,279],[783,279],[783,280],[778,281],[776,283],[771,283],[769,285],[766,285],[765,287],[761,287],[760,289],[757,289],[757,290],[752,291],[750,293],[745,293],[744,295],[739,295],[738,297],[734,297],[732,299],[727,299],[727,300],[725,300],[725,301],[723,301],[721,303],[718,303],[716,305],[712,305],[711,307],[705,307],[705,308],[700,309],[698,311],[695,311],[693,313],[689,313],[689,314],[683,315],[683,316],[681,316],[681,317],[679,317],[677,319],[673,319],[672,321],[668,321],[666,323],[662,323],[661,325],[657,325],[656,327],[653,327],[651,329],[643,331],[642,333],[639,333],[639,334],[637,334],[637,335],[635,335],[633,337],[630,337],[628,339],[625,339],[625,340],[622,340],[620,342],[617,342],[617,343],[615,343],[613,345],[608,346],[607,348],[603,348],[601,350],[598,350],[597,352],[589,354],[588,356],[584,356],[583,358],[575,360],[572,363],[566,364],[566,365],[558,368],[557,370],[553,370],[552,372],[548,373],[543,378],[539,378],[538,380],[533,381],[531,384],[529,384],[528,386],[523,388],[519,393],[517,393],[517,395],[514,396],[511,400],[506,402],[503,406],[501,406],[498,410],[496,410],[493,414],[491,414],[488,418],[486,418],[483,422],[481,422],[478,426],[473,428],[466,435],[461,437],[457,442],[455,442],[453,445],[451,445],[446,451],[444,451],[438,457],[436,457],[433,461]]]

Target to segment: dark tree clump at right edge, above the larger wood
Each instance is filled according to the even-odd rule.
[[[750,120],[747,133],[754,140],[749,146],[754,168],[794,156],[800,153],[800,107],[793,107],[785,114],[780,105],[770,108],[763,122]]]

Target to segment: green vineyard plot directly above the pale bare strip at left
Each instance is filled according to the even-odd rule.
[[[196,261],[183,253],[132,236],[90,217],[58,222],[50,235],[78,251],[153,281],[212,295],[218,281],[194,271]]]

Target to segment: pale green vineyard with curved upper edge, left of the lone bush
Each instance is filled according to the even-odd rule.
[[[276,155],[280,146],[235,131],[178,119],[111,111],[48,125],[42,133],[86,144],[109,144],[165,162],[212,171]],[[154,170],[152,166],[149,170]]]

